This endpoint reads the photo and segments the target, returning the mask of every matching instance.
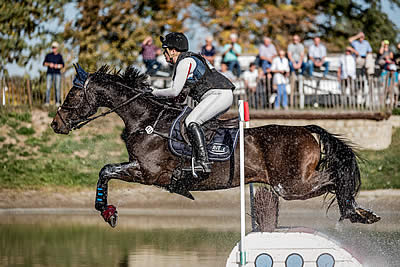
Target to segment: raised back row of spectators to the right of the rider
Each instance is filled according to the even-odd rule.
[[[228,69],[236,76],[241,75],[240,64],[238,57],[242,53],[241,46],[237,43],[237,35],[230,35],[230,42],[224,45],[222,49],[222,62],[228,65]],[[349,45],[346,47],[344,55],[341,57],[341,64],[346,63],[346,66],[340,66],[342,74],[343,69],[346,68],[344,77],[350,73],[350,77],[354,77],[353,71],[357,70],[359,74],[374,74],[376,67],[379,66],[381,70],[393,70],[398,68],[400,64],[400,43],[397,46],[397,53],[390,50],[390,43],[388,40],[383,40],[379,49],[376,60],[372,54],[372,47],[370,43],[365,40],[365,35],[360,32],[349,38]],[[207,47],[207,49],[206,49]],[[281,49],[281,48],[280,48]],[[212,53],[210,53],[212,51]],[[327,60],[327,48],[321,42],[319,37],[313,39],[306,51],[304,44],[301,42],[300,36],[295,34],[292,36],[292,42],[288,45],[287,59],[289,62],[290,72],[296,72],[300,75],[313,76],[314,69],[322,71],[323,77],[326,77],[330,71],[330,62]],[[212,44],[212,38],[206,39],[206,45],[203,46],[201,52],[209,61],[213,62],[217,53],[216,47]],[[212,58],[209,58],[212,55]],[[355,64],[347,55],[351,55]],[[254,64],[262,70],[262,74],[267,78],[272,78],[272,63],[273,59],[279,57],[276,46],[272,43],[271,38],[264,36],[261,43],[258,55]],[[346,61],[343,61],[347,58]],[[350,69],[351,68],[351,69]]]

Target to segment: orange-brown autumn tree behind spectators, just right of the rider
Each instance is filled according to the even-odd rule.
[[[216,35],[220,43],[228,41],[231,32],[239,34],[239,42],[247,52],[254,52],[255,43],[269,36],[285,46],[290,34],[312,30],[317,14],[315,0],[195,1],[208,15],[203,25]]]

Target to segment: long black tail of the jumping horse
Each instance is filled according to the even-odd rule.
[[[327,172],[329,180],[334,183],[335,186],[329,192],[335,194],[341,219],[345,219],[357,206],[355,197],[361,186],[358,156],[353,150],[354,146],[339,135],[331,134],[317,125],[307,125],[304,128],[319,135],[321,160],[318,170]]]

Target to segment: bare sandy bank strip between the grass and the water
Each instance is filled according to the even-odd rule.
[[[193,192],[195,201],[171,194],[156,187],[112,184],[109,204],[119,212],[118,229],[199,229],[236,231],[240,229],[240,190]],[[248,190],[247,190],[248,194]],[[109,227],[94,209],[95,188],[41,190],[0,189],[1,224],[96,225]],[[246,213],[250,214],[249,195]],[[400,190],[361,192],[360,206],[381,216],[373,225],[351,224],[379,231],[399,231]],[[280,226],[304,226],[315,229],[335,228],[340,217],[337,205],[326,213],[323,197],[305,201],[284,201],[279,204]],[[251,229],[250,216],[246,228]],[[357,228],[358,229],[358,228]]]

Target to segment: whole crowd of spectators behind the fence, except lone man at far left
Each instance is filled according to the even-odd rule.
[[[337,79],[355,80],[359,75],[379,75],[387,73],[398,75],[397,69],[400,65],[400,43],[397,45],[396,53],[391,50],[390,42],[383,40],[381,47],[374,58],[372,47],[365,34],[359,32],[348,39],[348,46],[343,55],[339,57],[337,68]],[[239,63],[242,54],[242,47],[238,43],[238,35],[231,33],[229,40],[223,44],[222,49],[218,50],[213,43],[212,36],[205,38],[205,44],[201,47],[201,54],[214,65],[217,54],[221,55],[220,71],[228,77],[234,84],[240,79],[243,81],[241,86],[250,94],[258,92],[260,80],[266,81],[274,90],[275,108],[287,108],[287,92],[290,91],[290,74],[295,76],[316,77],[315,71],[321,74],[317,77],[327,78],[330,72],[330,62],[327,59],[327,48],[321,42],[320,37],[316,36],[312,44],[306,47],[300,36],[294,34],[287,46],[275,46],[271,38],[264,36],[259,46],[258,54],[254,62],[251,62],[248,70],[242,72],[243,68]],[[151,37],[147,37],[142,44],[143,61],[150,75],[160,68],[160,63],[156,57],[160,54],[159,49],[153,44]],[[335,65],[337,66],[337,65]],[[335,69],[336,71],[336,69]],[[334,79],[335,76],[329,76]],[[398,79],[396,79],[398,83]],[[256,101],[257,102],[257,101]],[[270,102],[272,102],[270,100]]]

